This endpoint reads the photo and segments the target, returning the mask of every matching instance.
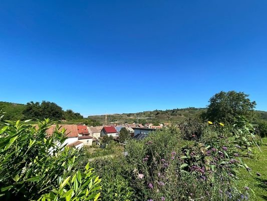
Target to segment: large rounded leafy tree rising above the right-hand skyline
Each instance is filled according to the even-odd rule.
[[[233,124],[238,117],[245,117],[248,121],[255,118],[256,102],[251,102],[248,94],[236,91],[221,91],[209,99],[205,114],[206,120]]]

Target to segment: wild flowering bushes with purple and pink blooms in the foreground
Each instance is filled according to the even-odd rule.
[[[207,127],[198,142],[183,140],[176,128],[158,130],[142,141],[128,141],[126,157],[95,160],[102,200],[248,199],[250,189],[236,185],[239,168],[250,172],[241,157],[246,146],[233,136],[251,142],[251,134],[243,132],[245,127],[234,134],[217,127]]]

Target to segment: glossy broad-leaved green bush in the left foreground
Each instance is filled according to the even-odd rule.
[[[65,130],[51,136],[46,119],[38,125],[0,120],[1,200],[97,200],[100,179],[86,166],[77,170],[83,150],[63,145]]]

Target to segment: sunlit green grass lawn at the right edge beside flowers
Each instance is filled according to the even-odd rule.
[[[267,138],[262,139],[263,144],[260,146],[262,153],[254,148],[256,154],[253,159],[245,158],[244,162],[251,168],[250,175],[245,169],[240,170],[239,186],[248,186],[250,189],[249,200],[261,201],[267,200]],[[261,176],[257,176],[256,173]]]

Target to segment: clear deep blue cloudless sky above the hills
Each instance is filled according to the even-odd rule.
[[[205,107],[244,91],[267,111],[267,1],[1,1],[0,100],[82,115]]]

